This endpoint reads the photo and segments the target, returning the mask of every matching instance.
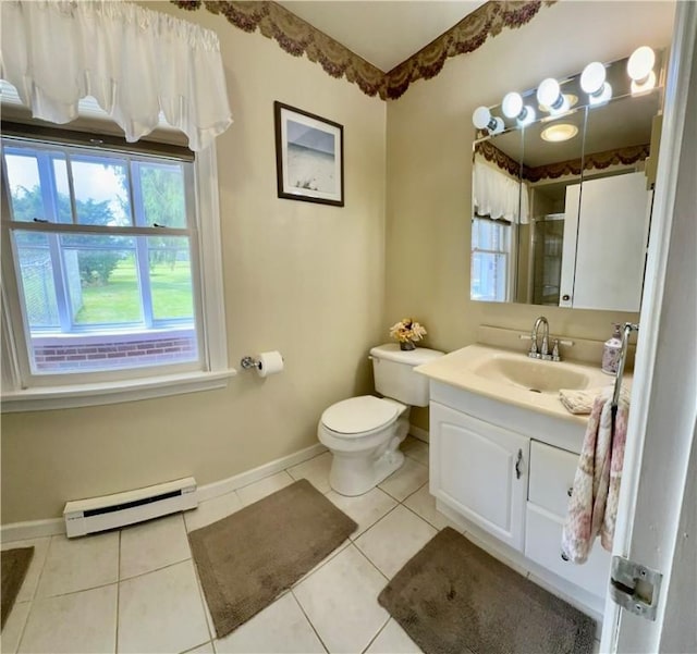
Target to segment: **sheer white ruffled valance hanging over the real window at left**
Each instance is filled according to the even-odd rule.
[[[215,32],[109,0],[5,0],[0,77],[36,119],[68,123],[93,96],[135,141],[164,120],[201,150],[232,123]]]

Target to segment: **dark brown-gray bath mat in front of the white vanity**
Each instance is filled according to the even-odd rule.
[[[378,602],[427,654],[582,654],[595,622],[445,528]]]

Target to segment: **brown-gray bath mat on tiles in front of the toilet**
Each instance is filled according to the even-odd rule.
[[[266,608],[356,528],[301,479],[192,531],[188,540],[218,638]]]

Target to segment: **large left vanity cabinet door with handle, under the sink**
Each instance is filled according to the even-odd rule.
[[[523,551],[530,440],[430,404],[430,492]]]

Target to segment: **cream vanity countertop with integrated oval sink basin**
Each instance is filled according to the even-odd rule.
[[[454,350],[414,370],[464,391],[578,424],[586,424],[588,415],[567,411],[559,399],[559,390],[614,385],[614,378],[599,367],[541,361],[528,358],[525,353],[479,344]],[[535,386],[543,390],[531,391]]]

